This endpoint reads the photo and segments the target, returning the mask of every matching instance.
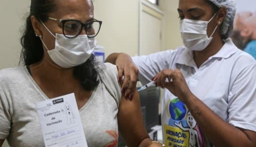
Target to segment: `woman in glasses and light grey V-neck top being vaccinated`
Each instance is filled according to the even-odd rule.
[[[92,55],[101,21],[91,0],[32,0],[24,66],[0,71],[0,146],[44,147],[36,102],[74,93],[88,147],[160,147],[145,130],[138,94],[123,98],[112,64]]]

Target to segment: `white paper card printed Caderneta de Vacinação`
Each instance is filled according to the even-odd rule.
[[[88,147],[75,95],[37,102],[46,147]]]

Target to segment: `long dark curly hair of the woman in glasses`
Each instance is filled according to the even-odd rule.
[[[30,14],[26,18],[26,25],[23,36],[21,37],[21,57],[20,63],[25,66],[39,62],[43,57],[43,46],[39,37],[35,36],[32,27],[31,16],[34,15],[37,20],[45,22],[48,14],[56,8],[55,0],[31,0]],[[80,81],[85,90],[93,90],[98,84],[98,63],[94,55],[83,64],[74,67],[74,77]]]

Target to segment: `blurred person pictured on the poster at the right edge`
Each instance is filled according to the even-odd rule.
[[[236,14],[232,40],[240,50],[248,52],[256,59],[256,11]]]

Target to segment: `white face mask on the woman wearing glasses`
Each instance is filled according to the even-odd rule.
[[[48,50],[47,46],[40,37],[44,44],[50,58],[58,65],[64,68],[71,68],[85,63],[96,47],[95,38],[88,38],[87,35],[79,35],[75,38],[67,38],[63,34],[53,33],[45,26],[48,32],[56,38],[55,48]]]

